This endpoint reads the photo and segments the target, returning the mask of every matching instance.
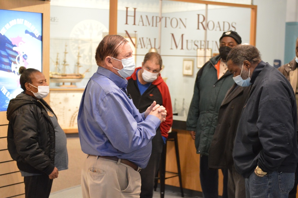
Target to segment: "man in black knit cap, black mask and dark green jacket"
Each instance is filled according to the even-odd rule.
[[[209,149],[218,119],[218,110],[228,89],[234,84],[228,71],[226,57],[229,51],[241,43],[237,32],[224,32],[219,39],[219,55],[212,57],[198,71],[190,104],[186,130],[195,140],[200,154],[200,181],[204,198],[218,197],[218,170],[208,168]],[[223,198],[227,195],[227,171],[223,170]]]

